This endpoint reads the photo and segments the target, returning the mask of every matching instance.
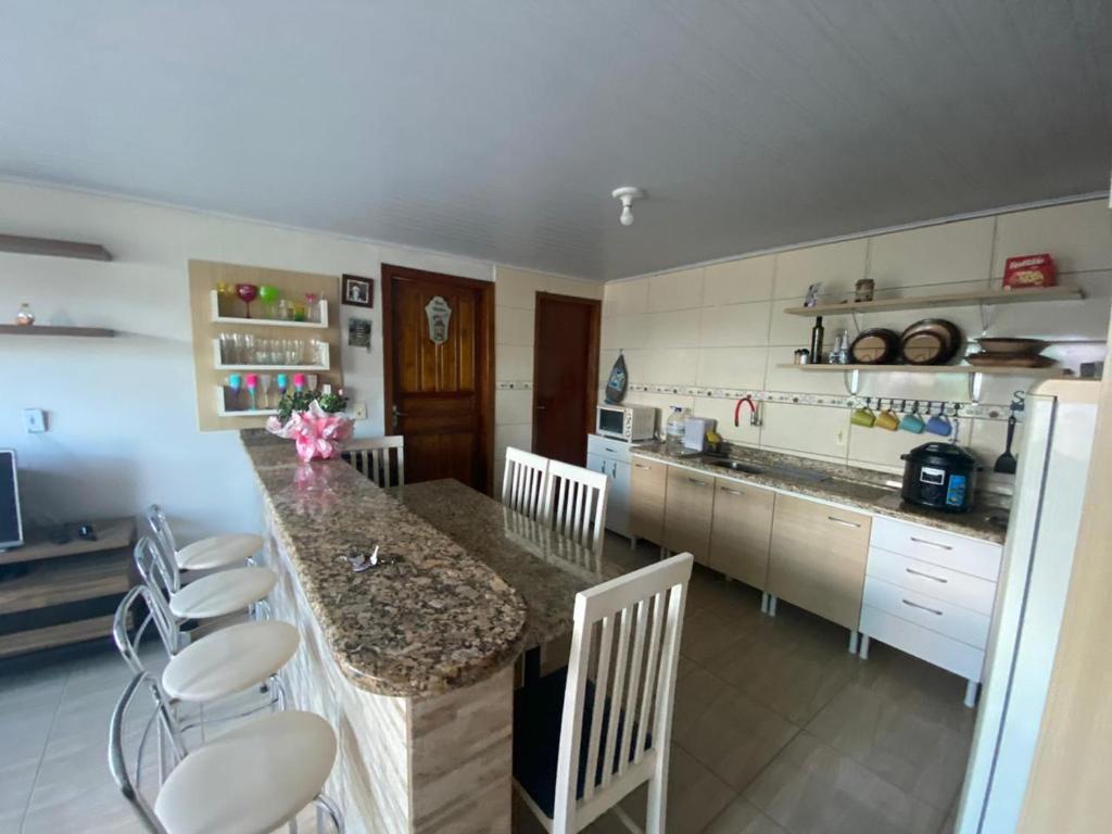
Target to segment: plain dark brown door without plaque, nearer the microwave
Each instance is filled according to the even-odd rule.
[[[537,292],[533,339],[533,450],[583,466],[595,430],[600,304]]]

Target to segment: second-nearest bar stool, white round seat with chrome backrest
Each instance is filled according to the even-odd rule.
[[[147,608],[147,616],[129,633],[128,623],[133,620],[140,602]],[[136,585],[120,600],[112,623],[116,646],[136,675],[147,672],[139,656],[139,644],[150,623],[155,624],[169,658],[160,685],[172,702],[206,705],[262,687],[272,694],[262,706],[285,708],[286,689],[278,673],[297,654],[301,641],[297,628],[289,623],[274,619],[241,623],[179,649],[176,624],[166,600],[146,585]]]

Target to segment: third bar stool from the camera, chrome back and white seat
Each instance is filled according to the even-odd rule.
[[[187,619],[212,619],[247,609],[257,613],[278,583],[278,575],[270,568],[234,567],[182,586],[177,565],[149,536],[139,539],[135,559],[143,584],[152,594],[168,599],[176,632]],[[180,639],[179,634],[175,637]]]

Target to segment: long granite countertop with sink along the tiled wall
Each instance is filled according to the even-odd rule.
[[[886,480],[892,480],[895,477],[887,473],[736,446],[731,449],[732,459],[749,463],[754,466],[768,467],[770,470],[756,475],[733,471],[712,465],[714,460],[722,458],[707,455],[677,456],[665,454],[663,444],[638,446],[632,450],[632,454],[663,460],[675,466],[685,466],[718,478],[731,478],[796,493],[810,498],[842,504],[866,513],[898,518],[986,542],[997,544],[1004,542],[1005,528],[991,522],[990,517],[1006,517],[1007,510],[989,506],[974,506],[969,513],[956,514],[905,504],[900,497],[898,489],[885,486]],[[806,477],[792,477],[771,469],[771,467],[777,466],[804,469],[808,473],[826,476],[826,479],[813,480]]]

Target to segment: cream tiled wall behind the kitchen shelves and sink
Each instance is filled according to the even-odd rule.
[[[1091,200],[610,281],[603,302],[600,380],[620,349],[631,386],[639,389],[627,396],[631,403],[657,406],[662,414],[671,405],[693,408],[716,418],[722,434],[738,443],[900,471],[898,456],[930,436],[851,427],[848,409],[832,404],[846,396],[842,375],[778,367],[807,346],[814,324],[783,308],[801,305],[814,281],[822,281],[828,300],[852,297],[854,282],[864,277],[876,281],[877,297],[999,288],[1006,257],[1043,251],[1055,257],[1059,281],[1084,288],[1088,298],[999,307],[990,334],[1103,339],[1112,296],[1112,212],[1105,201]],[[950,319],[971,336],[982,330],[975,307],[872,314],[860,324],[898,332],[925,317]],[[850,316],[827,317],[824,326],[827,348],[840,328],[856,332]],[[1048,353],[1075,367],[1103,358],[1104,345],[1058,345]],[[1006,404],[1012,390],[1031,381],[989,378],[982,403]],[[800,401],[766,405],[763,428],[747,420],[734,428],[736,397],[751,390],[798,395]],[[965,377],[955,374],[863,374],[861,394],[969,399]],[[963,420],[959,440],[991,467],[1003,449],[1005,415],[985,416]]]

